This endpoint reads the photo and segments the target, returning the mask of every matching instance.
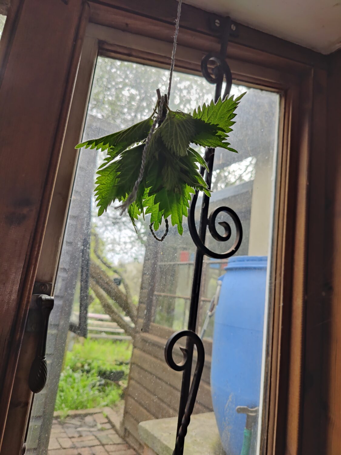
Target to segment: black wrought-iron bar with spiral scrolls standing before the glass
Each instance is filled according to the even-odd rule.
[[[216,26],[213,24],[213,28],[216,30]],[[224,78],[226,80],[226,88],[222,99],[229,95],[232,86],[232,75],[230,67],[226,62],[226,50],[228,44],[228,38],[231,31],[231,19],[227,17],[225,21],[220,24],[221,30],[221,51],[219,54],[210,52],[203,57],[201,61],[201,72],[205,79],[216,85],[215,102],[219,100],[222,92],[222,85]],[[213,63],[213,66],[210,65]],[[206,148],[205,161],[207,163],[208,171],[201,166],[200,173],[207,183],[208,188],[211,189],[211,178],[213,171],[214,162],[214,148]],[[241,246],[243,230],[241,221],[230,207],[218,207],[208,214],[209,200],[210,198],[203,193],[201,202],[201,213],[199,229],[196,228],[195,222],[195,208],[198,200],[198,192],[196,192],[192,198],[191,207],[189,209],[188,226],[191,234],[191,238],[196,245],[196,257],[193,271],[193,282],[191,290],[191,303],[190,312],[188,318],[188,329],[176,332],[171,336],[165,345],[165,359],[167,364],[176,371],[183,371],[182,383],[181,383],[181,394],[178,414],[178,425],[176,431],[176,444],[173,451],[173,455],[183,455],[184,442],[187,433],[188,425],[190,424],[191,414],[193,412],[194,404],[196,402],[196,395],[199,389],[201,380],[201,373],[205,362],[205,350],[201,338],[196,334],[196,322],[199,308],[199,298],[201,291],[201,273],[204,256],[215,259],[226,259],[235,254],[238,248]],[[211,236],[218,242],[226,242],[231,238],[232,229],[227,221],[218,222],[221,227],[224,228],[224,233],[220,234],[216,228],[216,220],[219,214],[225,213],[229,215],[234,223],[236,230],[236,238],[230,249],[225,253],[216,253],[211,251],[205,245],[207,227]],[[181,338],[186,337],[186,347],[181,347],[183,354],[183,360],[180,364],[176,364],[173,359],[172,351],[174,345]],[[194,376],[191,382],[191,369],[194,345],[197,351],[197,360]]]

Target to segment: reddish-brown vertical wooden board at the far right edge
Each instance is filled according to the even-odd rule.
[[[341,453],[341,52],[330,57],[323,289],[322,450]]]

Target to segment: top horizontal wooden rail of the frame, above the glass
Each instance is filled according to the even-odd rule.
[[[112,14],[108,10],[105,14],[107,16]],[[136,16],[130,14],[130,20],[136,20]],[[120,20],[121,19],[121,20]],[[165,30],[162,27],[160,30],[160,23],[153,20],[150,24],[145,23],[145,27],[151,30],[160,30],[160,33],[144,34],[143,25],[138,22],[139,27],[133,25],[126,26],[127,17],[117,18],[115,15],[115,27],[103,26],[98,24],[89,24],[89,33],[93,37],[97,37],[100,41],[100,49],[102,55],[112,56],[114,58],[127,58],[136,62],[150,62],[151,65],[169,68],[169,56],[173,43],[169,40],[172,35],[172,30]],[[100,22],[101,23],[101,22]],[[106,22],[104,22],[106,23]],[[129,25],[129,24],[128,24]],[[139,38],[136,39],[136,33],[139,33]],[[140,33],[143,33],[141,35]],[[181,35],[178,39],[176,48],[176,68],[178,71],[195,72],[201,75],[201,59],[207,51],[219,51],[219,41],[216,36],[207,37],[197,31],[190,31],[181,29]],[[239,66],[245,68],[247,62],[258,65],[264,72],[265,67],[271,72],[276,68],[287,77],[288,73],[295,74],[298,69],[307,71],[309,66],[303,63],[291,61],[288,58],[280,56],[271,56],[264,51],[257,51],[250,49],[246,46],[230,43],[227,50],[227,59],[231,67],[232,75],[235,79],[239,78]],[[258,72],[258,71],[257,71]],[[241,72],[241,74],[245,74]],[[253,71],[247,73],[248,77],[253,74]],[[256,75],[254,75],[256,77]]]

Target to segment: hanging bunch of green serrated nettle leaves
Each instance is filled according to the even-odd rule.
[[[135,226],[140,215],[150,213],[150,222],[155,231],[160,227],[162,217],[171,216],[173,226],[183,233],[182,217],[187,217],[191,193],[211,192],[199,172],[206,167],[201,155],[190,147],[223,147],[236,152],[226,142],[235,110],[241,100],[238,96],[221,98],[214,103],[198,107],[193,114],[171,111],[167,105],[164,121],[155,129],[146,152],[143,179],[138,188],[135,202],[128,213]],[[158,101],[159,102],[159,101]],[[76,148],[91,148],[107,152],[104,163],[99,167],[95,196],[98,216],[107,210],[111,202],[125,201],[139,176],[141,157],[146,137],[153,124],[155,113],[130,128],[78,144]]]

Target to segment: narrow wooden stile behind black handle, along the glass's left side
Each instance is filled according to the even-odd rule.
[[[93,38],[85,40],[82,50],[79,72],[81,78],[77,79],[73,103],[70,109],[70,122],[68,123],[63,144],[58,175],[54,187],[51,209],[45,230],[44,242],[40,254],[36,281],[52,282],[54,280],[56,265],[58,263],[58,251],[61,244],[61,234],[65,223],[69,202],[70,187],[72,185],[77,153],[74,150],[75,142],[78,141],[83,125],[87,106],[88,92],[97,55],[97,43]],[[90,61],[89,61],[90,60]],[[86,63],[85,63],[86,62]],[[52,260],[54,258],[54,260]],[[21,444],[21,434],[25,435],[25,406],[32,399],[32,393],[28,388],[27,377],[35,355],[34,344],[36,335],[24,334],[23,345],[20,349],[19,360],[16,368],[15,382],[12,389],[10,407],[7,414],[5,435],[1,450],[4,453],[14,453],[19,449],[13,446],[14,442]],[[27,412],[29,409],[27,410]],[[16,423],[16,425],[15,425]]]

